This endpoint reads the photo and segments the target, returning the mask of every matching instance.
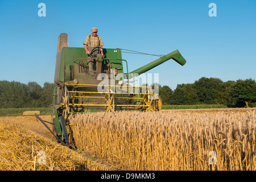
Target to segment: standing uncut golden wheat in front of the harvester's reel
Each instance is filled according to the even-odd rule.
[[[73,146],[114,169],[255,170],[254,109],[74,114]]]

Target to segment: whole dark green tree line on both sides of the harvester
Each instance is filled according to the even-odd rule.
[[[55,84],[36,82],[0,81],[0,108],[51,107]],[[156,84],[152,85],[154,88]],[[249,78],[221,81],[219,78],[201,77],[193,84],[178,84],[175,90],[159,86],[163,105],[221,104],[228,107],[255,107],[256,82]]]

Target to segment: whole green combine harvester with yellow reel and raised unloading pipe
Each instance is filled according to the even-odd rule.
[[[89,71],[88,59],[95,60],[93,71]],[[47,128],[69,146],[68,117],[71,113],[161,110],[162,100],[154,92],[155,89],[150,86],[131,86],[129,79],[170,59],[180,65],[186,63],[176,50],[129,73],[127,61],[122,59],[121,49],[104,48],[104,57],[101,54],[92,57],[86,54],[84,48],[68,47],[68,35],[60,34],[54,77],[56,88],[53,92],[51,119],[53,132]],[[123,71],[123,63],[126,64],[127,73]],[[36,117],[45,122],[38,115]]]

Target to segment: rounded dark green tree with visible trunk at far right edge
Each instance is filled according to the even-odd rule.
[[[256,83],[255,80],[237,80],[231,91],[232,97],[238,102],[244,102],[248,107],[249,102],[256,102]]]

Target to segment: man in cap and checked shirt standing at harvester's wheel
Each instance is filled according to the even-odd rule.
[[[84,49],[88,55],[88,57],[96,56],[97,53],[101,53],[102,56],[104,56],[103,53],[103,42],[101,40],[100,35],[97,35],[98,29],[93,27],[92,28],[92,34],[87,35],[86,39],[84,41]],[[92,57],[93,58],[93,57]],[[89,65],[89,72],[93,71],[93,65],[96,65],[96,60],[94,59],[88,59],[88,65]]]

